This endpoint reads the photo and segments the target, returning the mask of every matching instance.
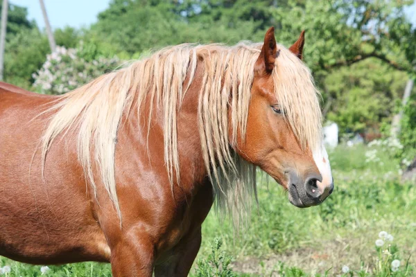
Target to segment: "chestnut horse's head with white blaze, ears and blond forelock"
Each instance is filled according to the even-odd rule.
[[[268,30],[254,65],[245,136],[237,132],[234,145],[302,208],[320,204],[333,190],[318,93],[301,61],[303,47],[304,32],[287,50],[276,44],[274,29]]]

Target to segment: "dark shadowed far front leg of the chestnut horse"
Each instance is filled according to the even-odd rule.
[[[165,262],[155,265],[155,277],[188,276],[193,261],[201,246],[201,229],[188,235],[172,249],[172,256]]]

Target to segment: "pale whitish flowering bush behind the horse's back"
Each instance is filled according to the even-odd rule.
[[[82,46],[81,46],[82,47]],[[63,94],[103,75],[106,70],[115,69],[119,64],[116,58],[100,57],[87,62],[78,48],[56,46],[55,52],[46,56],[42,68],[33,73],[33,87],[44,94]]]

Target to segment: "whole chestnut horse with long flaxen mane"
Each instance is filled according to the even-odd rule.
[[[216,203],[241,217],[256,168],[306,208],[333,190],[319,91],[274,28],[180,44],[62,96],[0,84],[0,255],[187,276]]]

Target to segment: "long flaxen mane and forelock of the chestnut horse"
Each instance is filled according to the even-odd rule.
[[[78,159],[94,196],[97,190],[93,161],[121,219],[114,173],[117,131],[123,113],[132,109],[133,102],[137,103],[139,115],[145,98],[149,97],[149,123],[154,107],[163,112],[164,161],[171,186],[174,182],[180,184],[177,111],[200,60],[204,73],[198,98],[198,129],[205,166],[218,207],[241,214],[238,212],[244,206],[250,206],[247,202],[252,199],[250,196],[257,195],[255,166],[241,159],[229,145],[236,145],[237,132],[245,138],[254,63],[261,45],[242,42],[236,46],[181,44],[164,48],[60,96],[44,111],[53,113],[40,144],[42,170],[53,141],[73,127],[78,132]],[[318,91],[302,61],[284,46],[277,48],[279,55],[272,78],[279,105],[302,148],[314,151],[322,139]],[[189,78],[187,84],[186,78]]]

